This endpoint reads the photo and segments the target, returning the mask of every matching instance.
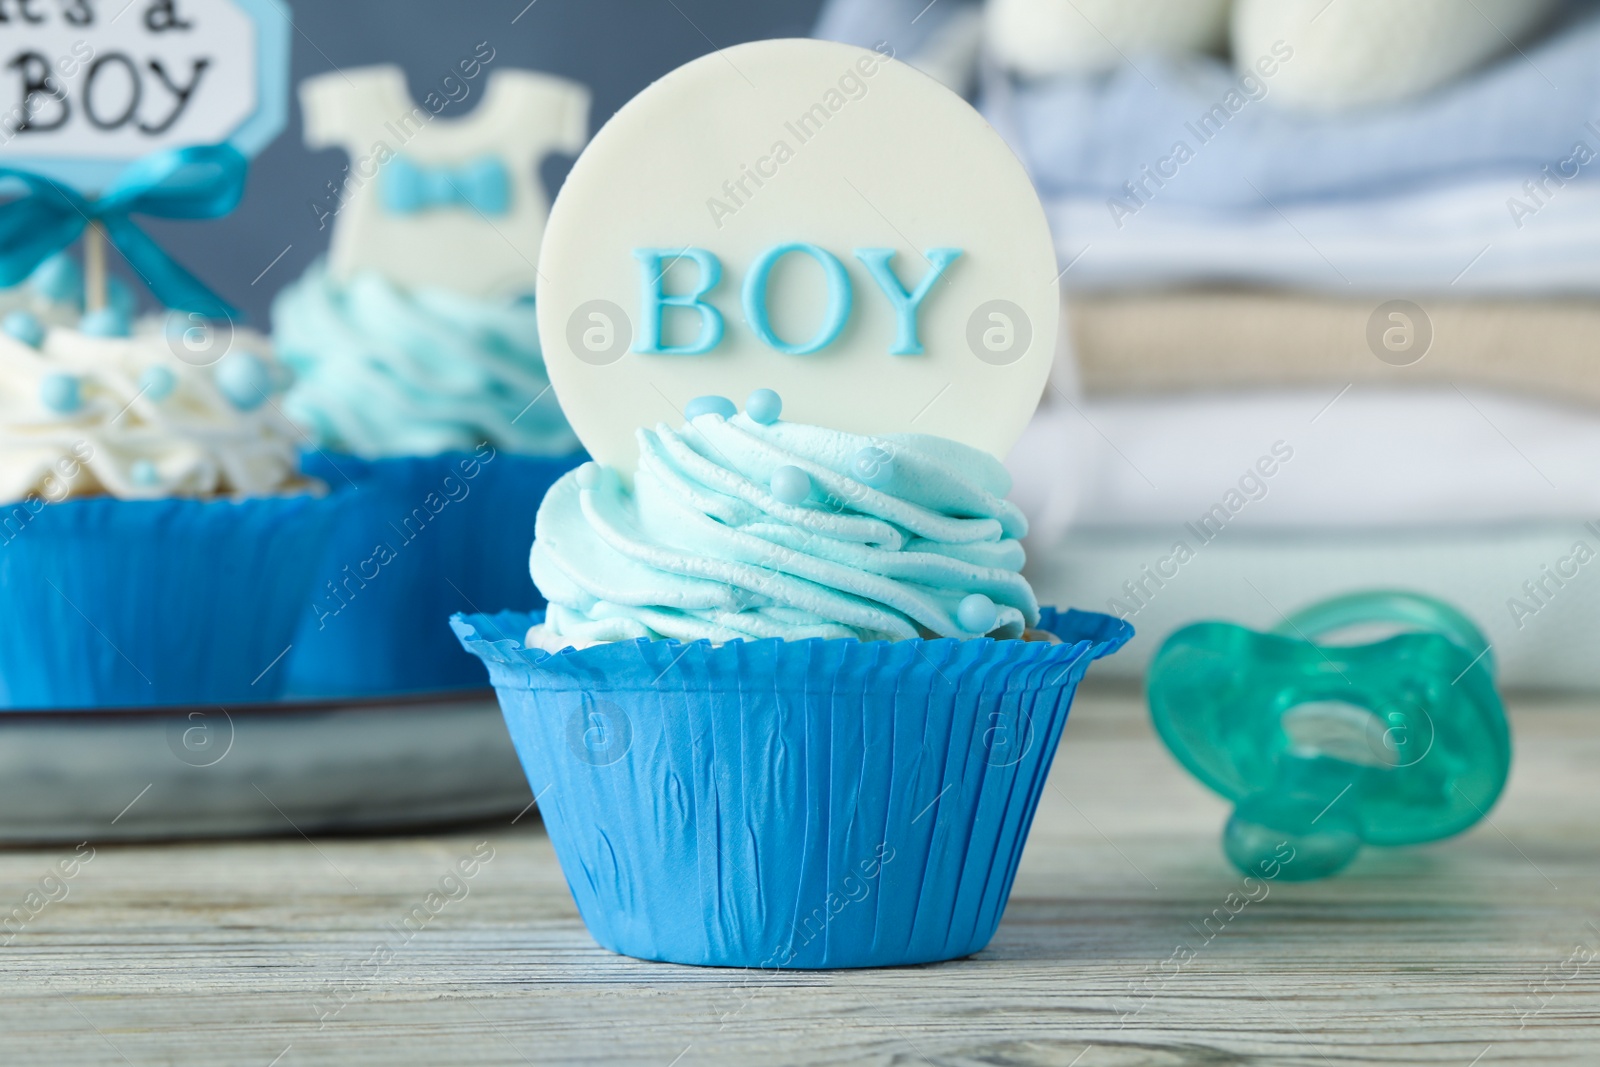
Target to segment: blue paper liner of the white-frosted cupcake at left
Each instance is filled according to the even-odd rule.
[[[346,496],[0,509],[0,709],[278,699]]]

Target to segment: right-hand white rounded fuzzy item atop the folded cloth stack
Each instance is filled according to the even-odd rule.
[[[1280,106],[1366,107],[1445,85],[1510,48],[1557,6],[1558,0],[1238,0],[1234,56],[1248,64],[1285,42],[1294,58],[1272,82]]]

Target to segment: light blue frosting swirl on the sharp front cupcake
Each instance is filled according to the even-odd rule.
[[[893,458],[878,488],[853,474],[869,448]],[[632,490],[586,464],[544,498],[531,571],[550,608],[531,643],[1014,638],[1038,621],[1027,522],[986,453],[715,413],[640,430],[638,451]],[[800,502],[779,499],[798,475],[773,488],[784,467],[810,478]],[[994,603],[982,632],[962,625],[974,593]]]

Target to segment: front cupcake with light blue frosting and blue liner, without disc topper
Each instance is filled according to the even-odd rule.
[[[837,968],[992,937],[1117,619],[1040,609],[992,456],[690,405],[539,507],[544,616],[454,619],[594,937]]]

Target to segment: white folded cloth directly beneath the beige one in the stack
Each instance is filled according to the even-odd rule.
[[[1030,552],[1069,528],[1208,537],[1600,518],[1600,413],[1472,389],[1051,392],[1006,466]]]

